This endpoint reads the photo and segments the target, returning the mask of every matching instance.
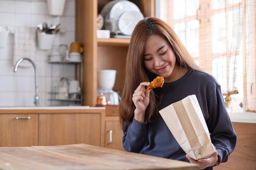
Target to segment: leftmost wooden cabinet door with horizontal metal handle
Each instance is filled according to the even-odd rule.
[[[1,146],[37,146],[38,114],[0,114]]]

